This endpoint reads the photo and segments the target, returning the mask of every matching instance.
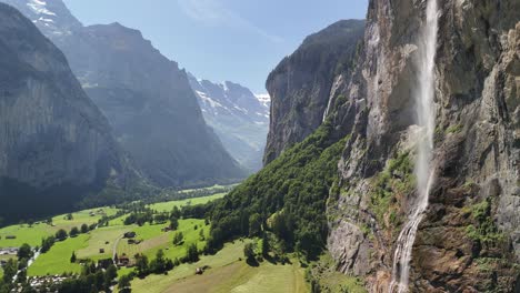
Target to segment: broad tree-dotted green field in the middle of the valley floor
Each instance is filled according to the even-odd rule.
[[[109,225],[96,229],[87,234],[80,234],[77,238],[69,238],[62,242],[57,242],[49,252],[41,254],[30,266],[28,274],[34,276],[79,273],[81,265],[79,263],[70,263],[72,252],[76,253],[78,260],[89,259],[97,261],[111,259],[116,247],[118,255],[126,254],[133,261],[133,255],[138,253],[153,259],[160,249],[164,251],[167,257],[176,259],[182,257],[187,252],[188,245],[191,243],[198,243],[199,249],[203,247],[204,242],[199,241],[199,233],[203,228],[206,228],[204,231],[209,231],[209,226],[204,226],[203,220],[180,220],[177,231],[163,232],[162,230],[167,225],[150,225],[148,223],[142,226],[136,224]],[[196,226],[198,228],[197,230],[194,230]],[[136,232],[136,240],[141,242],[139,244],[129,244],[127,239],[122,239],[126,232]],[[172,239],[173,234],[178,232],[184,234],[184,243],[174,246]]]

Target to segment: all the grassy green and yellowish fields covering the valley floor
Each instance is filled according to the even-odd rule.
[[[224,195],[218,193],[154,203],[146,208],[157,214],[169,213],[174,206],[203,204]],[[141,225],[126,225],[124,220],[130,214],[127,210],[102,208],[53,216],[51,221],[48,219],[31,224],[7,226],[0,229],[0,249],[19,247],[24,243],[37,247],[42,244],[42,239],[54,235],[59,230],[70,233],[73,228],[78,228],[78,235],[57,241],[29,266],[29,276],[46,276],[79,274],[82,271],[82,262],[111,260],[114,255],[128,256],[130,264],[136,264],[136,255],[146,255],[153,260],[161,250],[164,257],[180,260],[187,255],[190,245],[194,244],[202,251],[209,236],[210,223],[201,219],[179,219],[178,228],[171,231],[169,221],[159,224],[146,222]],[[101,226],[97,226],[100,220]],[[82,225],[93,230],[81,232]],[[136,236],[124,238],[128,232],[134,233]],[[182,234],[182,241],[174,244],[173,239],[178,234]],[[131,282],[132,292],[309,292],[303,276],[304,269],[297,261],[286,265],[263,261],[257,266],[250,266],[243,260],[243,250],[246,243],[252,241],[247,239],[227,243],[217,254],[200,255],[198,262],[178,264],[167,274],[134,277]],[[258,240],[254,242],[258,244]],[[71,261],[72,254],[74,261]],[[16,255],[0,255],[0,261],[10,257]],[[196,274],[200,267],[204,269],[203,274]],[[133,271],[134,267],[122,266],[118,275],[127,275]]]

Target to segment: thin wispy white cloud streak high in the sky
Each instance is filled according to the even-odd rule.
[[[239,28],[257,33],[271,42],[280,43],[282,38],[271,34],[226,8],[219,0],[177,0],[182,11],[191,19],[209,26]]]

